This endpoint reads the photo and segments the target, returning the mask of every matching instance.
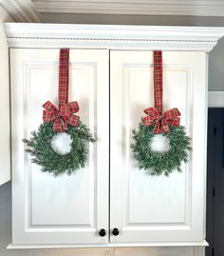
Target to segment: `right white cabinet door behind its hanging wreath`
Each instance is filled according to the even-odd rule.
[[[154,106],[153,52],[111,51],[111,242],[202,241],[205,207],[206,54],[163,52],[163,110],[178,108],[193,151],[182,172],[152,177],[130,144],[143,109]]]

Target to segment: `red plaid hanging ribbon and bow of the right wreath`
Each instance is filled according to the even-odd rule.
[[[146,108],[147,114],[143,118],[143,125],[148,127],[154,125],[154,133],[170,133],[169,126],[178,127],[180,112],[177,108],[171,108],[162,113],[162,52],[156,50],[154,53],[154,103],[155,108]]]

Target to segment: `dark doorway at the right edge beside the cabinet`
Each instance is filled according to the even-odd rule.
[[[224,108],[209,108],[206,256],[224,256]]]

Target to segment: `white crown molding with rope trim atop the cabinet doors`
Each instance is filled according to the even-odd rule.
[[[13,48],[212,50],[224,28],[5,24]]]

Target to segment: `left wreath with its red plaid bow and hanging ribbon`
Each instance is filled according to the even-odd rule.
[[[25,151],[33,157],[32,162],[41,166],[42,171],[54,176],[66,173],[70,175],[76,169],[84,167],[87,160],[87,143],[94,143],[90,130],[74,113],[79,111],[76,101],[68,103],[68,59],[69,49],[60,49],[59,65],[59,108],[47,101],[43,108],[43,121],[32,137],[24,139]],[[58,133],[70,136],[70,151],[60,154],[51,147],[52,139]]]

